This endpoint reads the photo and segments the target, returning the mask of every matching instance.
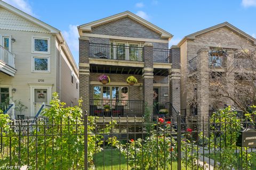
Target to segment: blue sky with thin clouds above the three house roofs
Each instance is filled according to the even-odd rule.
[[[174,35],[169,46],[178,44],[190,33],[226,21],[256,38],[256,0],[3,1],[61,30],[77,64],[77,25],[124,11],[131,11]]]

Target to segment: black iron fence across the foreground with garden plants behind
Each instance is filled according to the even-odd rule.
[[[183,116],[36,118],[1,124],[0,167],[28,169],[255,169],[254,147],[237,146],[237,131],[256,122]],[[227,120],[229,121],[227,121]],[[254,136],[250,136],[252,141]],[[250,143],[249,143],[250,144]],[[251,143],[255,146],[254,143]]]

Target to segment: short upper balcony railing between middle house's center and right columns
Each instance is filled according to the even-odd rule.
[[[169,63],[170,49],[153,48],[153,61],[158,63]]]

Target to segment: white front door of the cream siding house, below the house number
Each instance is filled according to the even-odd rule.
[[[37,112],[39,111],[43,103],[48,104],[48,90],[35,89],[34,90],[35,115],[37,114]]]

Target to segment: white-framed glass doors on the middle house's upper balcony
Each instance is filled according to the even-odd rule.
[[[142,44],[110,41],[110,59],[142,61]]]

